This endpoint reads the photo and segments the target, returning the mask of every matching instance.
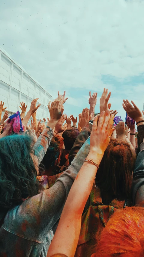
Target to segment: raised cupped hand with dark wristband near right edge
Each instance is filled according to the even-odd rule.
[[[131,103],[133,105],[131,105]],[[128,101],[128,99],[123,100],[122,106],[124,110],[127,112],[128,116],[133,118],[136,122],[143,120],[143,114],[140,111],[140,109],[135,105],[133,101],[131,103]],[[142,124],[142,123],[139,123]]]

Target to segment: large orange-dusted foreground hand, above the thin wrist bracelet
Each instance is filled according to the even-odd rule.
[[[106,113],[102,111],[98,126],[97,119],[98,117],[95,116],[90,137],[90,152],[93,152],[94,158],[95,153],[97,153],[96,156],[98,159],[96,161],[101,161],[104,151],[110,142],[110,136],[115,130],[112,128],[114,115],[112,114],[110,116],[110,111],[106,111]]]

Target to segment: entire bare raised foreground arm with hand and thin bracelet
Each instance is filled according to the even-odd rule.
[[[52,243],[49,247],[47,257],[54,254],[65,254],[73,257],[79,239],[81,216],[91,192],[99,164],[104,155],[104,151],[110,141],[113,130],[114,115],[110,117],[110,111],[101,112],[97,127],[97,117],[94,119],[91,132],[91,149],[84,162],[76,180],[71,187],[67,201],[55,232]]]

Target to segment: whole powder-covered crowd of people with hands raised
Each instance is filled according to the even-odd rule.
[[[58,92],[47,124],[38,98],[10,117],[0,102],[1,257],[144,256],[144,112],[123,100],[116,122],[110,96],[77,120]]]

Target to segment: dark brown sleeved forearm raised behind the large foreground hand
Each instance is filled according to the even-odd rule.
[[[83,146],[85,141],[88,139],[88,137],[91,135],[91,129],[92,129],[92,124],[88,123],[85,128],[82,129],[82,131],[79,133],[77,136],[72,149],[70,150],[68,159],[69,163],[73,161],[74,157],[76,154],[79,152],[79,149]]]

